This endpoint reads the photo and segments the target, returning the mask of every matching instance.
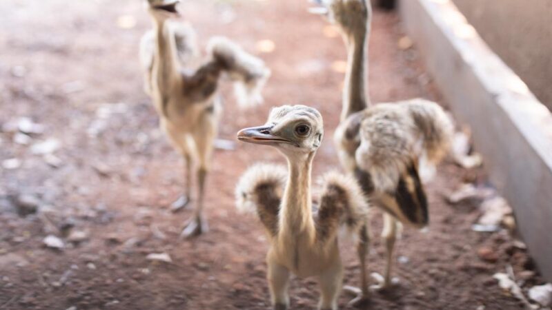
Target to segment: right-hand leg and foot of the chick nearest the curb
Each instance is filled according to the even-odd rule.
[[[386,267],[384,276],[380,273],[371,273],[372,278],[378,282],[377,285],[372,285],[371,289],[385,290],[399,282],[398,278],[391,278],[391,269],[393,267],[393,249],[395,248],[395,240],[397,239],[397,220],[390,214],[384,214],[384,229],[382,237],[385,239],[386,247]]]

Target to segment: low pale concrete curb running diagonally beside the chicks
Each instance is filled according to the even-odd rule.
[[[493,184],[512,205],[531,256],[552,281],[552,113],[451,0],[403,0],[400,13],[455,116],[471,126]]]

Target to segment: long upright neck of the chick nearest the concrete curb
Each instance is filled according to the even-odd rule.
[[[345,39],[347,45],[347,72],[345,75],[341,121],[368,107],[366,99],[366,52],[368,30],[361,30]]]

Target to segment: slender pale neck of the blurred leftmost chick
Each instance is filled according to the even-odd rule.
[[[155,56],[153,74],[159,88],[168,86],[179,76],[179,62],[177,61],[176,42],[173,39],[172,29],[168,27],[166,19],[152,17],[155,30]]]

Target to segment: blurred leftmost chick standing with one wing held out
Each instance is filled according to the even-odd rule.
[[[244,52],[232,41],[215,37],[208,45],[208,60],[195,65],[199,52],[189,25],[172,21],[179,0],[148,0],[153,30],[141,41],[144,90],[152,98],[163,130],[186,164],[184,196],[173,209],[188,204],[191,170],[195,163],[197,204],[193,218],[181,233],[197,236],[207,230],[204,189],[220,116],[218,83],[223,74],[235,81],[238,103],[262,101],[260,90],[270,76],[264,62]]]

